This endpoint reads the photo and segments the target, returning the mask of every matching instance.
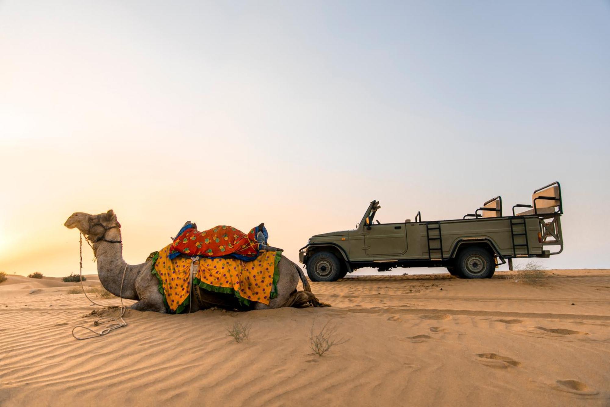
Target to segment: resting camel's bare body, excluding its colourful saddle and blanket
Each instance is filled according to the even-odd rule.
[[[165,313],[163,296],[159,293],[159,281],[151,273],[152,260],[138,265],[127,265],[123,260],[123,244],[121,243],[121,225],[112,210],[99,215],[76,212],[64,224],[68,229],[77,228],[93,244],[93,254],[98,262],[99,281],[110,293],[125,299],[135,299],[131,309],[140,311],[156,311]],[[273,309],[281,307],[327,306],[315,298],[311,292],[303,270],[282,256],[278,263],[279,281],[278,296],[270,300],[269,305],[255,303],[254,309]],[[124,281],[121,291],[121,279]],[[303,291],[297,291],[299,280],[303,282]],[[223,293],[213,293],[203,288],[193,287],[193,299],[190,312],[210,307],[238,309],[236,298]]]

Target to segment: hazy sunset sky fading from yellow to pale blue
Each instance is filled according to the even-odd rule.
[[[609,44],[595,0],[0,0],[0,271],[77,273],[75,211],[129,263],[187,220],[298,260],[373,199],[455,219],[553,181],[542,265],[608,268]]]

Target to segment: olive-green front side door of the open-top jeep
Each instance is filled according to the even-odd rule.
[[[367,256],[401,255],[407,251],[406,224],[373,224],[364,228]]]

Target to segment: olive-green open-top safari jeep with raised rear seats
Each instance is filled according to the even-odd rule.
[[[379,202],[373,200],[354,230],[312,236],[300,249],[301,263],[312,281],[336,281],[347,273],[374,267],[446,267],[454,276],[489,278],[498,264],[512,270],[512,259],[549,257],[563,250],[561,187],[559,182],[536,189],[531,205],[514,205],[502,215],[502,198],[485,202],[462,219],[382,224],[375,220]],[[529,208],[515,214],[515,208]],[[559,246],[555,252],[545,246]]]

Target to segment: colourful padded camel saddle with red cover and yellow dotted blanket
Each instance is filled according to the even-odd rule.
[[[180,314],[199,288],[232,294],[243,308],[275,298],[282,249],[267,245],[265,224],[248,233],[220,225],[199,232],[186,222],[171,244],[153,252],[152,273],[168,311]]]

